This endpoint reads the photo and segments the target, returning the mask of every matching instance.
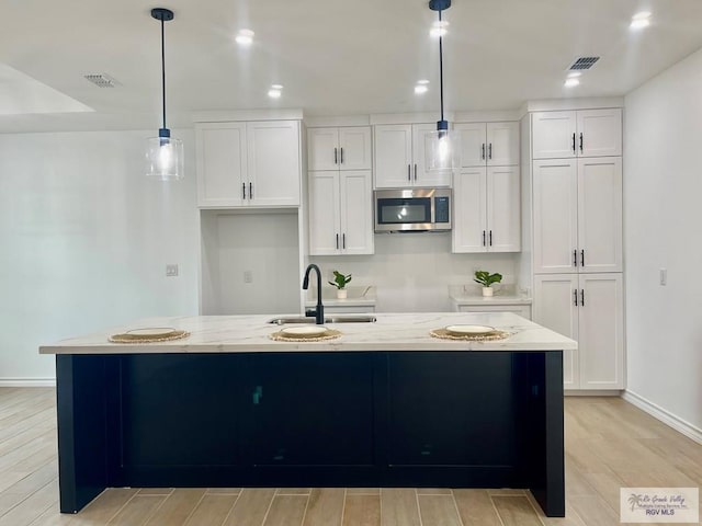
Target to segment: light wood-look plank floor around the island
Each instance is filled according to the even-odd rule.
[[[566,518],[521,490],[111,489],[58,513],[54,389],[0,388],[0,526],[620,525],[620,487],[702,485],[702,445],[618,398],[566,399]],[[702,514],[701,514],[702,516]]]

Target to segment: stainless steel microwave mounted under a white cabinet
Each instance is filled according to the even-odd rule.
[[[376,190],[375,231],[451,230],[451,188]]]

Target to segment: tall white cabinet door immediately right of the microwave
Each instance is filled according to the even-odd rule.
[[[487,179],[485,168],[466,168],[453,180],[452,252],[487,250]]]

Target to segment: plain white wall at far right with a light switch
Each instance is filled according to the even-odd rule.
[[[700,432],[702,50],[630,93],[624,115],[627,390]]]

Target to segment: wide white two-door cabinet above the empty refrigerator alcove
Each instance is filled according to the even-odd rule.
[[[195,125],[197,205],[299,206],[299,122]]]

